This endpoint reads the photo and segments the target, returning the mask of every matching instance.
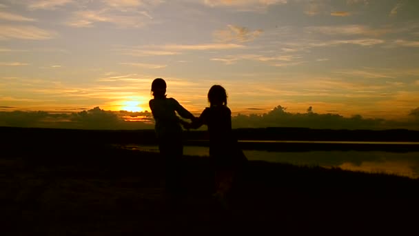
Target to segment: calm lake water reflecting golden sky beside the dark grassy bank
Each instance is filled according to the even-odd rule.
[[[389,144],[391,145],[391,144]],[[408,144],[407,144],[408,145]],[[126,145],[124,148],[159,152],[157,146]],[[185,146],[185,155],[207,156],[204,146]],[[295,165],[339,167],[369,173],[390,173],[419,178],[419,152],[391,153],[386,151],[316,150],[305,152],[279,152],[267,150],[243,150],[247,159],[284,162]]]

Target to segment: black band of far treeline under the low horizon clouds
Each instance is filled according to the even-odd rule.
[[[154,144],[154,130],[76,130],[57,128],[0,127],[2,139],[14,141],[91,141],[101,143]],[[417,130],[331,130],[311,128],[237,128],[238,140],[283,141],[419,141]],[[207,140],[206,130],[187,130],[185,139]]]

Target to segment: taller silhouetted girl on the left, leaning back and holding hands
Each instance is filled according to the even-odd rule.
[[[152,82],[154,99],[149,102],[155,120],[155,130],[159,141],[159,150],[165,159],[166,190],[173,195],[178,193],[181,175],[181,157],[183,156],[182,121],[177,115],[185,119],[194,119],[174,98],[166,97],[166,82],[157,78]]]

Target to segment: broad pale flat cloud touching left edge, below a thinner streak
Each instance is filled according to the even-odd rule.
[[[8,26],[0,25],[0,40],[7,39],[32,39],[43,40],[52,39],[57,33],[49,30],[43,30],[35,26]]]

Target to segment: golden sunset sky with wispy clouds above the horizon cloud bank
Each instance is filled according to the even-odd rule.
[[[416,0],[0,0],[0,109],[150,110],[154,78],[199,113],[398,119],[419,106]]]

